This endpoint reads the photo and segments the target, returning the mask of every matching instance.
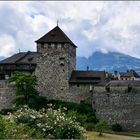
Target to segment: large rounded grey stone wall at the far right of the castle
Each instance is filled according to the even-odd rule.
[[[140,88],[111,87],[107,92],[104,87],[96,87],[92,105],[97,118],[105,120],[111,126],[119,123],[126,130],[140,130]]]

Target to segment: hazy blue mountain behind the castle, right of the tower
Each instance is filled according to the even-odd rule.
[[[140,59],[117,52],[95,52],[88,58],[77,57],[78,70],[86,70],[87,66],[89,70],[106,70],[108,72],[134,69],[140,74]]]

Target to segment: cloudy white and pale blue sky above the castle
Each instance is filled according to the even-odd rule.
[[[57,20],[78,56],[110,51],[140,58],[139,1],[0,1],[0,56],[36,51],[35,40]]]

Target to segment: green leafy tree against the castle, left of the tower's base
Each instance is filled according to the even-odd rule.
[[[18,105],[28,105],[29,102],[33,102],[39,94],[35,88],[37,80],[35,76],[31,74],[15,72],[9,79],[10,83],[14,83],[16,87],[16,98],[13,103]]]

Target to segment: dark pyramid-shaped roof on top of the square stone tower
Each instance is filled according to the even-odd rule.
[[[77,47],[68,36],[58,27],[56,26],[51,31],[46,33],[40,39],[35,41],[36,43],[70,43],[74,47]]]

